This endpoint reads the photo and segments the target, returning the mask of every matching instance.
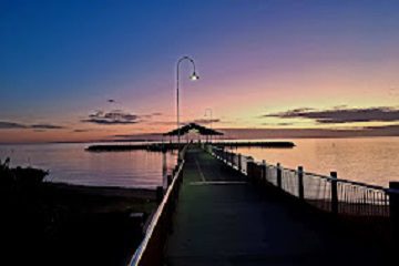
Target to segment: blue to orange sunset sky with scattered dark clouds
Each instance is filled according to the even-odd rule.
[[[398,10],[368,0],[1,0],[0,143],[170,131],[184,55],[200,80],[180,64],[183,123],[246,137],[399,135]]]

